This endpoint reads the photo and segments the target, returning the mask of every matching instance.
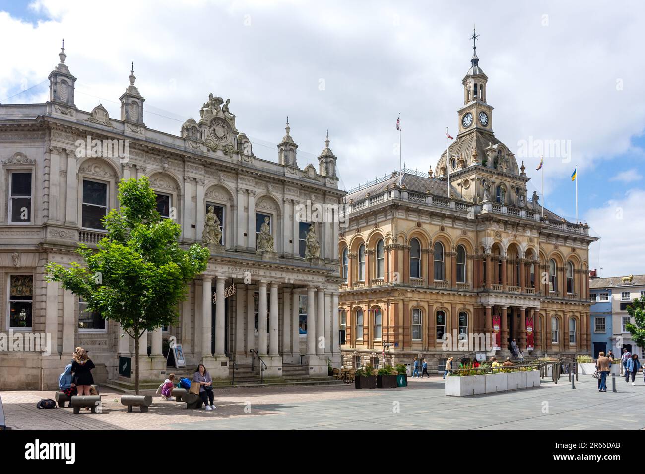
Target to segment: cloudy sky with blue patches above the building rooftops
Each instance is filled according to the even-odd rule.
[[[144,121],[179,133],[208,94],[230,97],[253,151],[277,161],[286,116],[301,167],[329,130],[345,189],[399,166],[433,169],[457,132],[473,24],[493,131],[546,206],[601,237],[590,267],[645,273],[645,5],[621,2],[0,1],[0,102],[45,101],[65,39],[75,101],[119,116],[134,61]],[[554,150],[555,151],[555,150]]]

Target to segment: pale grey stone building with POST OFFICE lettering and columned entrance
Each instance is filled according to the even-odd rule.
[[[163,339],[171,336],[183,344],[186,371],[201,361],[213,378],[229,377],[231,361],[250,364],[254,353],[275,377],[295,366],[313,375],[326,375],[329,360],[337,366],[339,224],[320,219],[310,228],[296,216],[299,204],[342,201],[329,138],[316,166],[301,168],[287,123],[277,163],[260,159],[230,101],[212,94],[179,136],[151,130],[134,71],[118,119],[101,104],[79,110],[62,48],[59,58],[46,103],[0,104],[0,331],[52,337],[50,355],[0,351],[0,390],[55,388],[79,345],[97,365],[95,380],[122,379],[118,356],[132,357],[134,341],[43,277],[47,262],[77,261],[78,242],[95,246],[119,180],[143,175],[159,212],[181,224],[181,243],[211,249],[177,325],[144,336],[143,380],[163,377]]]

